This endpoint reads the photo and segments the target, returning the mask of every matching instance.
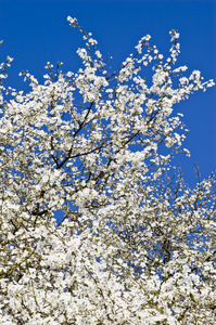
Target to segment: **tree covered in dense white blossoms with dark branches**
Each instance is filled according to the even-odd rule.
[[[86,42],[76,74],[48,63],[24,93],[1,65],[1,324],[215,324],[214,177],[190,190],[171,167],[174,104],[214,82],[174,68],[175,30],[166,61],[148,35],[110,72],[68,22]]]

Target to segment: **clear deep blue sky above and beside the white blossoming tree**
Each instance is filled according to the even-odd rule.
[[[24,88],[18,72],[29,70],[42,82],[48,61],[64,63],[63,70],[77,70],[76,50],[80,35],[66,17],[77,17],[86,31],[99,41],[104,55],[113,56],[117,67],[134,51],[138,40],[150,34],[160,52],[168,53],[170,29],[180,32],[181,53],[177,65],[201,70],[205,79],[216,80],[216,1],[139,0],[0,0],[0,61],[14,57],[10,86]],[[216,169],[216,87],[175,106],[185,114],[190,130],[185,146],[191,158],[178,157],[187,182],[193,183],[193,162],[201,176]]]

